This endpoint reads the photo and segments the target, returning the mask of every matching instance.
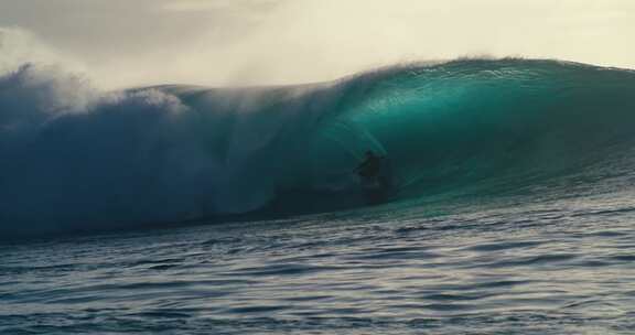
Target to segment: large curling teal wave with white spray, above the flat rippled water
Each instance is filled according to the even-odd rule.
[[[118,93],[25,65],[0,77],[0,234],[363,206],[351,171],[368,149],[389,156],[397,203],[601,183],[633,168],[634,96],[634,72],[555,61]]]

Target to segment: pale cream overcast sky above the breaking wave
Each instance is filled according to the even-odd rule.
[[[474,56],[635,68],[634,0],[0,0],[0,29],[108,88],[297,84]]]

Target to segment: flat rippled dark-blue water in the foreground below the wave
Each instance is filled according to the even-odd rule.
[[[0,332],[633,334],[633,219],[601,196],[6,245]]]

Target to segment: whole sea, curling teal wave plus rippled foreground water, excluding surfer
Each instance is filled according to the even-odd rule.
[[[635,72],[0,75],[2,334],[632,334]],[[373,150],[396,185],[368,206]]]

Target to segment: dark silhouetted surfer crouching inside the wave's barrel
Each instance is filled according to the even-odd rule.
[[[385,201],[390,191],[390,179],[385,161],[386,156],[368,150],[364,162],[355,169],[366,188],[366,197],[372,204]]]

